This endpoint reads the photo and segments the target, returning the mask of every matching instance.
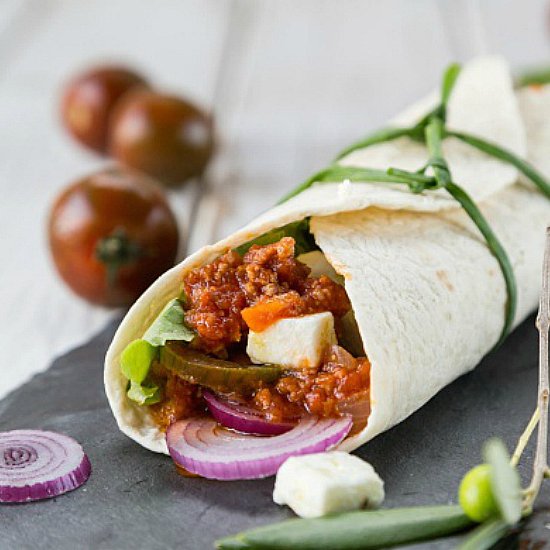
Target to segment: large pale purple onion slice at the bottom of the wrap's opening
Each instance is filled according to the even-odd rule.
[[[257,479],[274,475],[290,456],[328,451],[349,433],[352,419],[309,416],[273,437],[232,432],[211,418],[172,424],[166,443],[176,464],[210,479]]]

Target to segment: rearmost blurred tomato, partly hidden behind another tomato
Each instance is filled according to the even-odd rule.
[[[83,145],[105,153],[113,108],[124,94],[137,87],[147,87],[145,79],[122,67],[97,67],[78,75],[63,96],[65,126]]]

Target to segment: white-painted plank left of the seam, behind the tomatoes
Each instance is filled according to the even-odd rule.
[[[120,59],[209,107],[228,6],[215,0],[36,0],[19,3],[19,16],[4,11],[2,2],[0,396],[113,316],[75,298],[49,260],[45,223],[54,196],[106,163],[62,131],[62,83],[88,63]],[[8,15],[17,25],[1,26]],[[184,202],[175,201],[178,210]]]

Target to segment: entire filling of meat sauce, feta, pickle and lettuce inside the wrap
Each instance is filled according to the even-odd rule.
[[[179,298],[122,353],[128,399],[163,431],[212,400],[266,425],[351,416],[350,434],[363,429],[370,363],[343,278],[316,248],[284,236],[184,273]]]

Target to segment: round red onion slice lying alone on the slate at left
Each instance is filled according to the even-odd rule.
[[[91,471],[71,437],[41,430],[0,432],[0,502],[61,495],[80,487]]]

